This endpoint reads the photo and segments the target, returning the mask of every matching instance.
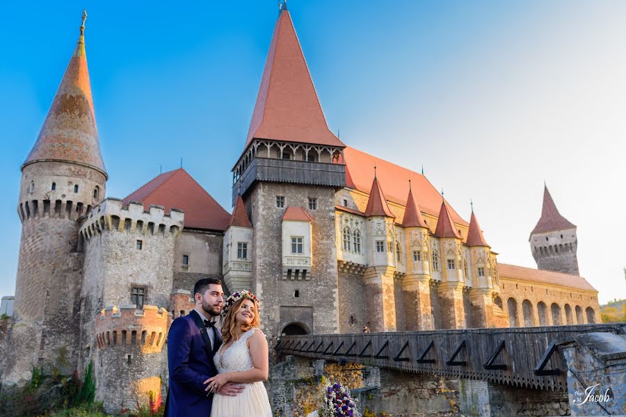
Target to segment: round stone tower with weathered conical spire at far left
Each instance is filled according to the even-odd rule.
[[[102,201],[100,154],[85,52],[85,19],[37,142],[22,165],[22,221],[15,315],[3,382],[28,379],[48,361],[77,363],[83,254],[78,218]]]

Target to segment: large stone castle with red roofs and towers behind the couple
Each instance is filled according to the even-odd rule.
[[[579,277],[574,224],[545,188],[530,235],[538,270],[497,262],[423,174],[345,145],[326,124],[289,11],[271,40],[232,169],[232,214],[185,170],[106,197],[79,40],[22,165],[13,318],[0,329],[3,384],[50,361],[95,366],[97,400],[165,393],[168,327],[200,277],[262,300],[281,334],[579,324],[600,317]],[[242,140],[243,142],[243,140]]]

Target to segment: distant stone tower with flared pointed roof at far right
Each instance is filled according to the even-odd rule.
[[[580,275],[576,257],[576,226],[556,209],[547,186],[543,190],[541,218],[531,232],[529,242],[537,268]]]

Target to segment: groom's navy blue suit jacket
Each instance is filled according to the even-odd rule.
[[[168,417],[208,417],[211,414],[213,394],[207,397],[204,391],[207,386],[203,382],[218,373],[213,355],[222,343],[222,335],[216,329],[216,346],[211,350],[211,346],[204,343],[192,314],[198,315],[192,310],[187,316],[174,320],[168,333],[170,377],[165,411]]]

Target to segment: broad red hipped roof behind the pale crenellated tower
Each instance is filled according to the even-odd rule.
[[[179,208],[185,213],[185,228],[224,231],[230,222],[230,214],[183,168],[163,172],[126,197],[123,204],[130,201],[164,206],[166,213]]]

